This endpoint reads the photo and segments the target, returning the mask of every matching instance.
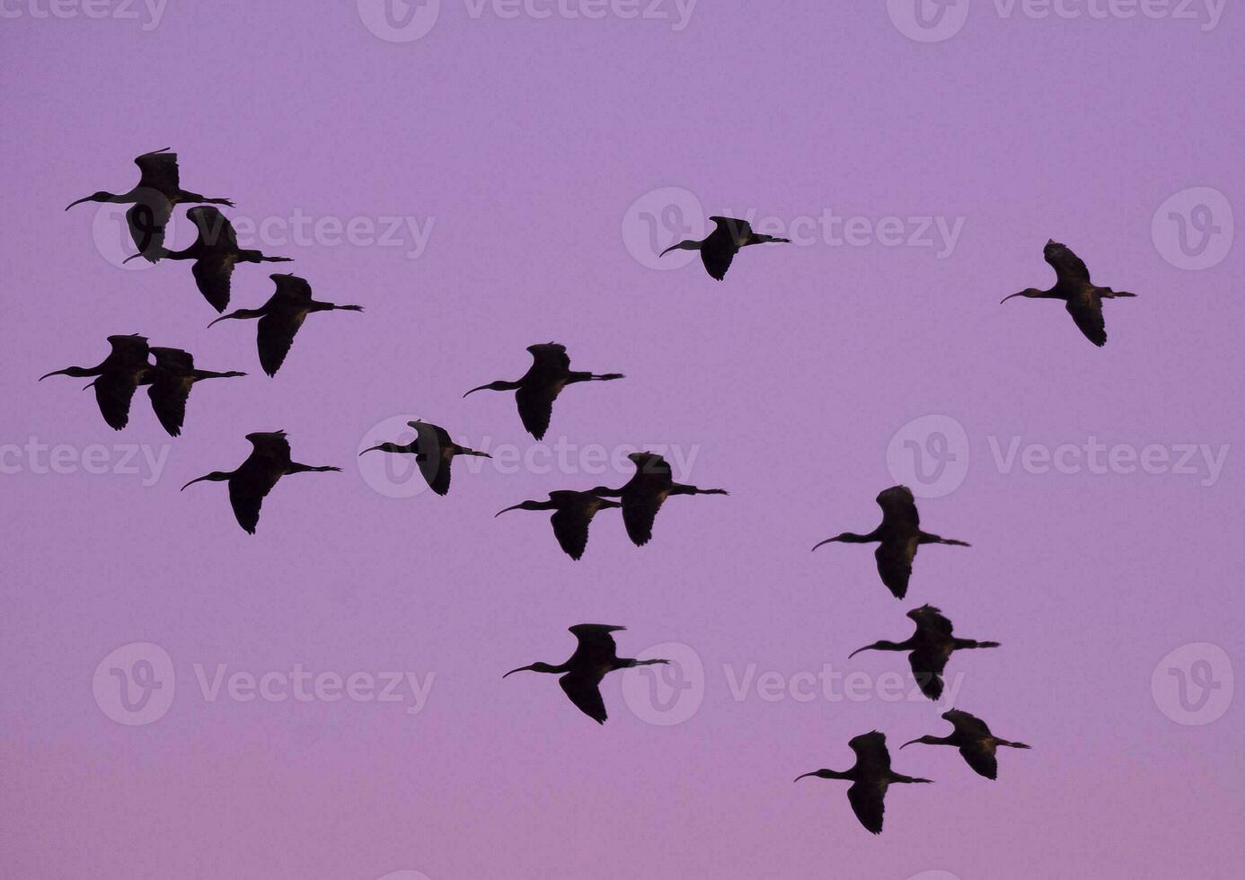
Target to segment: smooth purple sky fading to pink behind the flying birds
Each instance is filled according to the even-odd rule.
[[[0,6],[4,875],[1239,876],[1240,10],[979,1],[921,42],[901,0],[560,2],[442,0],[405,42],[371,0]],[[62,208],[166,146],[188,189],[235,200],[244,244],[367,311],[311,316],[269,380],[253,324],[205,330],[188,265],[116,268],[110,214]],[[654,269],[701,212],[799,243],[721,284]],[[1106,349],[1059,304],[998,305],[1052,283],[1048,238],[1139,294],[1107,304]],[[268,274],[239,268],[232,307]],[[85,381],[36,385],[127,332],[250,376],[200,385],[177,439],[143,393],[113,433]],[[513,396],[461,400],[548,340],[626,373],[563,395],[552,467]],[[391,497],[418,483],[356,453],[415,416],[528,458]],[[178,493],[279,428],[344,473],[283,480],[255,536],[224,485]],[[671,500],[642,549],[601,514],[579,563],[547,517],[492,518],[621,484],[598,451],[657,444],[731,497]],[[972,548],[923,550],[900,602],[872,548],[808,549],[872,529],[914,448],[923,524]],[[1002,642],[952,658],[949,687],[1033,751],[996,783],[952,749],[896,753],[936,782],[891,789],[874,838],[845,783],[791,780],[845,769],[857,733],[894,752],[949,729],[946,706],[885,697],[903,656],[847,660],[923,602]],[[502,681],[564,660],[581,621],[626,625],[624,656],[675,642],[674,708],[618,673],[599,728],[553,677]],[[93,678],[134,642],[158,646],[118,655],[154,663],[153,723],[110,717],[111,661]],[[854,698],[810,685],[825,665],[859,673]],[[214,690],[295,666],[411,678],[405,702]]]

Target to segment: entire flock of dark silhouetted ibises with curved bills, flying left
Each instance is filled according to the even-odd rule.
[[[233,225],[212,205],[233,207],[223,198],[207,198],[182,189],[177,154],[168,148],[146,153],[134,159],[141,172],[138,183],[126,193],[97,192],[68,205],[83,202],[129,204],[126,222],[136,254],[151,263],[162,260],[193,260],[192,274],[199,293],[217,311],[224,312],[230,300],[230,280],[234,268],[242,263],[286,261],[284,256],[269,256],[259,250],[238,246]],[[192,204],[187,218],[194,224],[195,240],[182,250],[164,246],[167,225],[179,204]],[[68,210],[66,208],[66,210]],[[757,244],[784,243],[788,239],[756,233],[746,220],[712,217],[713,230],[702,240],[685,240],[671,245],[672,250],[696,250],[705,270],[713,279],[725,279],[735,255],[743,248]],[[1097,346],[1107,341],[1102,315],[1104,299],[1130,297],[1134,294],[1097,286],[1089,280],[1086,264],[1066,245],[1050,240],[1043,249],[1046,261],[1055,269],[1056,283],[1047,290],[1028,288],[1013,296],[1032,299],[1057,299],[1066,304],[1068,314],[1084,336]],[[362,311],[357,305],[336,305],[312,297],[311,285],[295,275],[270,276],[276,289],[258,309],[237,309],[220,314],[212,324],[227,319],[258,319],[258,350],[260,367],[268,376],[275,376],[285,362],[294,337],[308,315],[320,311]],[[186,406],[195,382],[205,378],[240,377],[239,371],[214,372],[194,366],[190,352],[182,349],[149,346],[143,336],[110,336],[111,351],[95,367],[66,367],[49,376],[92,377],[86,386],[95,388],[96,402],[105,422],[113,429],[128,423],[129,406],[139,386],[148,386],[148,397],[161,424],[177,437],[186,422]],[[593,373],[570,368],[566,349],[555,342],[533,345],[528,349],[532,366],[517,380],[497,380],[468,391],[513,391],[524,429],[537,441],[549,429],[553,405],[561,391],[579,382],[608,382],[624,378],[621,373]],[[453,459],[458,456],[488,457],[488,453],[454,443],[449,433],[423,421],[410,422],[415,438],[407,443],[385,442],[364,449],[370,452],[415,456],[423,479],[438,495],[449,492]],[[264,498],[281,477],[295,473],[340,470],[332,466],[310,466],[295,462],[284,431],[247,434],[251,444],[248,458],[233,470],[214,470],[190,480],[182,488],[199,482],[224,482],[229,484],[229,500],[238,524],[250,534],[255,533]],[[571,559],[580,559],[588,545],[589,525],[598,513],[618,509],[627,536],[636,546],[644,546],[652,538],[652,527],[662,504],[671,495],[725,495],[725,489],[701,489],[679,483],[670,464],[659,454],[636,452],[630,456],[635,473],[620,488],[598,485],[586,490],[554,490],[544,500],[525,500],[505,508],[496,515],[510,510],[552,512],[549,518],[554,536],[561,550]],[[618,500],[614,500],[618,499]],[[814,550],[830,543],[878,543],[874,553],[881,583],[896,597],[904,599],[913,573],[913,560],[923,544],[967,546],[965,541],[942,538],[920,528],[920,518],[913,493],[903,485],[884,489],[878,495],[883,520],[873,531],[857,534],[844,531],[814,545]],[[853,651],[903,651],[909,655],[913,677],[921,693],[930,700],[942,695],[942,673],[955,651],[997,647],[998,642],[960,639],[954,635],[951,621],[942,612],[923,605],[908,612],[915,631],[904,641],[880,640]],[[609,672],[666,663],[666,660],[635,660],[619,657],[614,632],[625,627],[603,624],[579,624],[570,627],[578,646],[563,663],[530,663],[510,670],[504,677],[520,671],[559,675],[559,685],[566,697],[584,714],[598,723],[606,721],[600,682]],[[1027,749],[1028,746],[994,736],[980,718],[951,709],[942,713],[951,723],[952,732],[937,737],[923,736],[904,743],[929,746],[954,746],[959,748],[969,767],[987,779],[997,775],[996,751],[1000,747]],[[848,800],[860,824],[878,834],[883,826],[884,798],[893,783],[929,783],[929,779],[909,777],[890,768],[890,753],[885,734],[872,731],[854,737],[848,747],[855,754],[855,763],[847,770],[819,769],[804,773],[798,779],[844,779],[852,782]],[[903,748],[900,747],[900,748]]]

